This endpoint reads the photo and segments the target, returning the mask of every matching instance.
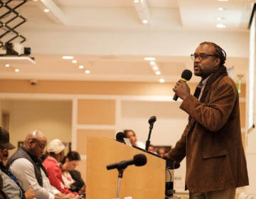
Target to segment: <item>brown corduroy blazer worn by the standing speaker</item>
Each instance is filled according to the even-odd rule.
[[[181,103],[191,119],[168,154],[178,162],[186,156],[186,188],[191,193],[249,184],[235,82],[220,77],[206,92],[203,103],[193,95]]]

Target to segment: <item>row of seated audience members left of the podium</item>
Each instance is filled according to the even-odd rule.
[[[85,198],[85,183],[75,170],[78,152],[64,156],[65,143],[59,139],[46,146],[46,136],[35,130],[6,162],[6,153],[15,146],[9,142],[9,132],[0,127],[0,198]]]

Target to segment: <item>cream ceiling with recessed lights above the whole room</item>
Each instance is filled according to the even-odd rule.
[[[6,1],[1,0],[4,3]],[[222,46],[233,77],[247,78],[249,0],[38,0],[16,11],[26,23],[14,42],[31,48],[31,58],[0,57],[1,79],[165,82],[193,70],[190,54],[202,41]],[[11,1],[14,7],[21,1]],[[223,7],[223,11],[218,11]],[[49,9],[49,12],[43,11]],[[6,12],[2,6],[0,16]],[[220,17],[221,20],[217,18]],[[2,23],[11,14],[0,18]],[[143,19],[149,22],[142,23]],[[16,26],[18,20],[10,23]],[[216,28],[218,23],[226,28]],[[0,28],[0,35],[6,31]],[[0,38],[7,41],[14,33]],[[1,54],[1,49],[0,49]],[[72,55],[78,63],[63,60]],[[155,64],[144,57],[156,58]],[[18,60],[19,59],[19,60]],[[9,67],[6,67],[6,63]],[[79,65],[84,68],[80,69]],[[156,65],[161,75],[152,69]],[[233,70],[232,70],[233,68]],[[18,69],[19,72],[15,72]],[[86,74],[85,70],[90,70]],[[191,81],[197,81],[193,77]]]

